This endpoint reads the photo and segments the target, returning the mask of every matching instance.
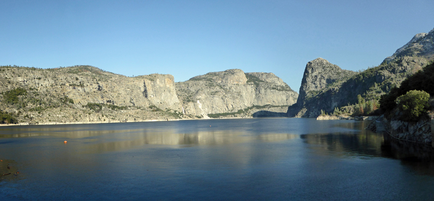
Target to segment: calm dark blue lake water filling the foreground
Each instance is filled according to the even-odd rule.
[[[367,123],[0,127],[0,159],[20,171],[0,177],[0,200],[434,199],[431,149],[389,141]]]

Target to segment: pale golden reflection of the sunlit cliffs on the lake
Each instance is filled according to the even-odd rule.
[[[190,124],[191,122],[184,122]],[[195,122],[197,123],[197,122]],[[222,130],[219,125],[210,128],[203,125],[180,125],[178,122],[163,124],[95,124],[95,125],[49,125],[49,126],[17,126],[0,128],[0,144],[12,143],[14,138],[55,137],[68,141],[69,147],[75,147],[80,153],[101,153],[107,151],[128,150],[143,145],[196,146],[227,145],[253,141],[278,142],[299,138],[299,135],[264,133],[249,131],[251,126],[257,127],[261,122],[243,122],[235,124],[239,130]],[[164,125],[164,126],[162,126]],[[247,126],[246,126],[247,125]],[[123,129],[129,128],[129,129]],[[231,129],[231,127],[228,127]],[[236,129],[236,128],[232,128]],[[47,138],[48,139],[48,138]],[[49,138],[54,140],[53,138]],[[53,143],[43,141],[45,146]]]

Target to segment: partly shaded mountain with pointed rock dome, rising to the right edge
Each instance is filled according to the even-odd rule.
[[[379,66],[361,72],[341,70],[327,60],[308,62],[300,87],[297,104],[288,108],[289,117],[318,117],[321,110],[333,113],[357,103],[357,95],[378,101],[393,86],[399,86],[408,76],[432,60],[434,30],[417,34]]]

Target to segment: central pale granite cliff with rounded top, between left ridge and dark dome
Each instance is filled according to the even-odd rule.
[[[240,69],[210,72],[176,83],[183,112],[194,116],[233,113],[252,106],[290,106],[297,92],[272,73]]]

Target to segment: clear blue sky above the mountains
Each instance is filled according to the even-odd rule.
[[[311,60],[366,69],[433,28],[433,0],[0,0],[0,65],[175,81],[239,68],[273,72],[298,91]]]

